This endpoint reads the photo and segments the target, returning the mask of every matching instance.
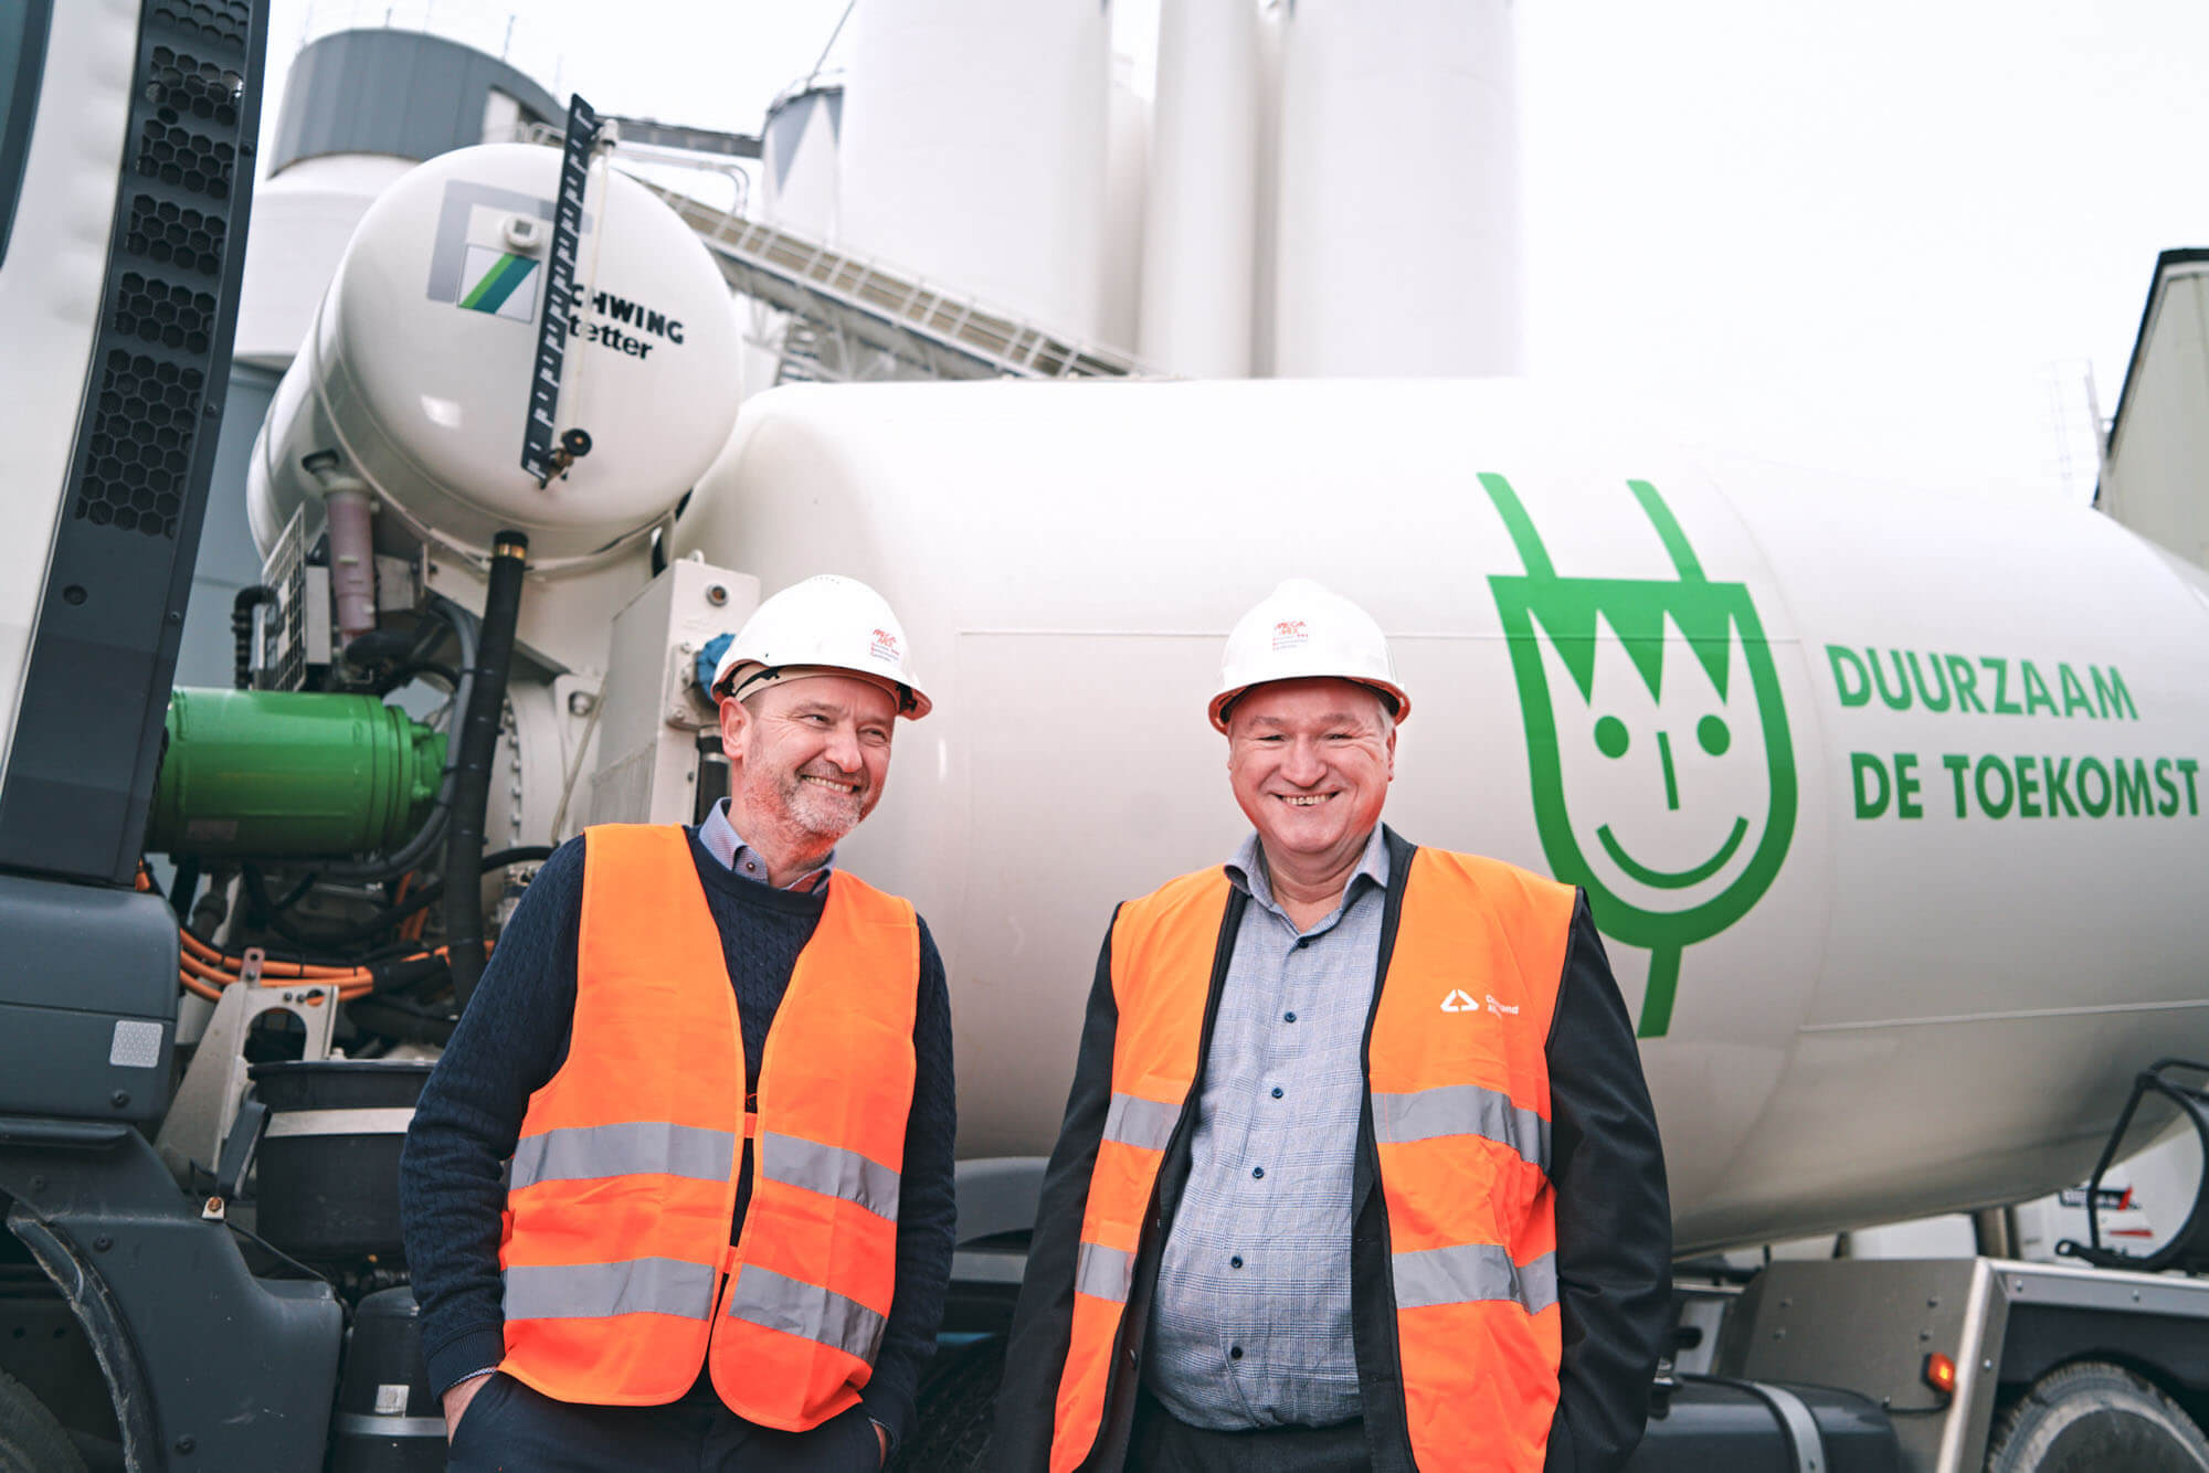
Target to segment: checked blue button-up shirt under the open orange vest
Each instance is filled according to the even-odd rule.
[[[1257,835],[1228,863],[1250,905],[1219,994],[1144,1360],[1144,1385],[1191,1427],[1359,1416],[1350,1186],[1387,875],[1376,826],[1343,903],[1299,932],[1272,897]]]

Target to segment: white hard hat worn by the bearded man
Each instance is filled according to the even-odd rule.
[[[753,610],[714,669],[714,696],[740,696],[784,671],[842,669],[897,696],[899,716],[928,716],[912,678],[906,629],[888,601],[857,579],[820,574]]]

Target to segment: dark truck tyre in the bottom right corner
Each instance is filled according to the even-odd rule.
[[[2209,1473],[2202,1440],[2178,1402],[2105,1360],[2050,1371],[1995,1427],[1986,1473]]]

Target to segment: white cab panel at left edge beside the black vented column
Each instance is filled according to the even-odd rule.
[[[137,22],[137,0],[53,7],[38,124],[7,261],[0,261],[0,300],[9,305],[9,351],[0,353],[0,428],[9,444],[9,537],[0,537],[0,771],[15,740],[15,707],[75,451],[68,426],[84,398],[108,272]]]

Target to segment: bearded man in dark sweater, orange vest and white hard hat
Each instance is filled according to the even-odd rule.
[[[877,1469],[950,1279],[952,1038],[912,905],[835,868],[928,716],[864,583],[751,616],[731,793],[546,861],[400,1166],[455,1473]]]

